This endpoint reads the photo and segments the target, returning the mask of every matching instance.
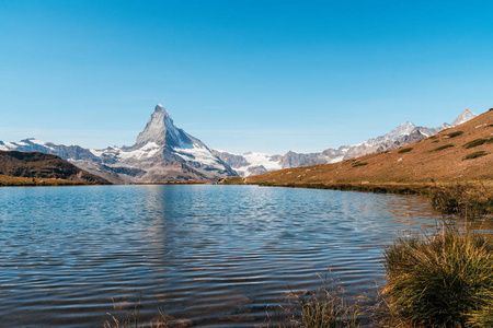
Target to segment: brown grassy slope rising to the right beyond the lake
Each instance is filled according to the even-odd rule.
[[[462,131],[460,133],[459,131]],[[456,132],[456,133],[454,133]],[[455,134],[458,134],[454,137]],[[483,143],[467,149],[468,142]],[[478,143],[478,142],[475,142]],[[493,183],[493,110],[403,149],[375,153],[334,164],[287,168],[248,177],[248,184],[429,184],[480,180]],[[482,156],[465,160],[472,153]]]

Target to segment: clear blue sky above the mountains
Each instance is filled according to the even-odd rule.
[[[0,140],[321,151],[493,107],[492,1],[0,0]]]

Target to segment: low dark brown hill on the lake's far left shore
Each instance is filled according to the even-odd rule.
[[[110,184],[106,179],[82,171],[58,156],[37,152],[0,151],[0,175]]]

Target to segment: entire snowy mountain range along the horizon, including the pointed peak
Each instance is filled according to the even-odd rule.
[[[226,176],[251,176],[280,168],[335,163],[395,149],[475,116],[466,108],[451,125],[444,124],[438,128],[416,127],[408,121],[385,136],[368,139],[360,144],[342,145],[319,153],[289,151],[284,155],[272,155],[248,152],[239,155],[210,150],[197,138],[176,128],[168,110],[158,104],[131,147],[94,150],[25,139],[19,142],[0,141],[0,150],[54,154],[114,184],[217,180]]]

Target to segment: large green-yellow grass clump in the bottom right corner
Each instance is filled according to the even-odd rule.
[[[410,326],[493,327],[491,236],[445,227],[395,241],[385,259],[382,294]]]

